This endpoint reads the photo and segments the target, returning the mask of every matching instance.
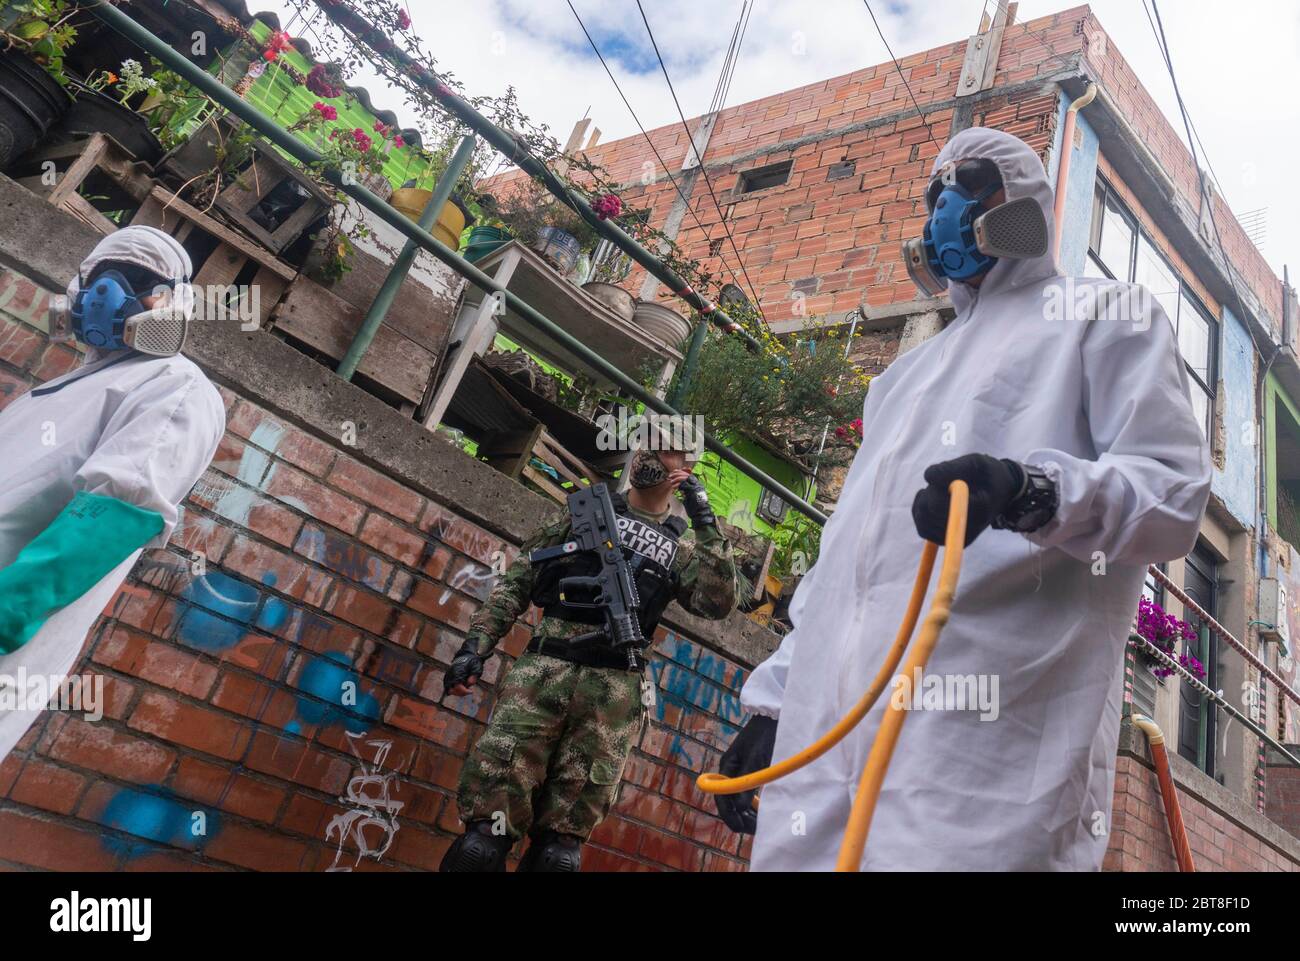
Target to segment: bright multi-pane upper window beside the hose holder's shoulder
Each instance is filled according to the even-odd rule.
[[[1218,378],[1218,321],[1143,233],[1138,218],[1098,181],[1092,203],[1087,277],[1141,283],[1169,315],[1178,333],[1178,352],[1187,365],[1188,394],[1201,430],[1210,436]]]

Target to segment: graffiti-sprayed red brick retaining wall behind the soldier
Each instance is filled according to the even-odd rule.
[[[36,329],[47,306],[0,270],[0,402],[75,362]],[[514,545],[221,391],[183,523],[90,635],[104,719],[47,711],[0,762],[0,866],[318,871],[356,861],[367,811],[364,844],[391,847],[359,870],[432,870],[459,831],[456,775],[526,631],[439,707],[442,668]],[[660,628],[653,671],[659,706],[585,863],[738,870],[693,782],[741,718],[744,670]]]

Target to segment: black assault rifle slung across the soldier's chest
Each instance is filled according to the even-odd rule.
[[[604,484],[593,484],[568,495],[569,523],[573,540],[554,547],[542,547],[528,555],[537,564],[558,557],[575,554],[580,550],[592,551],[601,560],[601,570],[590,577],[562,577],[559,583],[560,603],[568,607],[599,609],[604,614],[604,627],[573,637],[569,644],[584,646],[603,640],[615,649],[624,649],[628,667],[636,670],[636,650],[645,644],[641,636],[641,622],[637,609],[641,597],[637,594],[632,570],[619,542],[619,518],[614,512],[610,489]],[[571,594],[592,596],[592,601],[578,601]]]

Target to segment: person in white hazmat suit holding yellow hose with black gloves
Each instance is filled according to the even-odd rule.
[[[911,717],[863,870],[1100,869],[1144,571],[1192,549],[1209,497],[1167,316],[1141,287],[1061,276],[1035,152],[968,129],[933,169],[926,235],[905,255],[957,316],[872,381],[794,629],[741,692],[754,717],[723,774],[790,757],[858,701],[904,616],[920,538],[942,542],[954,479],[970,485],[974,544],[922,684],[896,678],[852,735],[763,788],[754,870],[833,869],[892,700]],[[991,697],[931,700],[936,681]],[[719,811],[753,831],[750,800],[720,796]]]

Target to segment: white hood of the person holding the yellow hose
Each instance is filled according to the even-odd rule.
[[[1056,195],[1052,185],[1048,183],[1046,170],[1043,161],[1024,140],[1001,130],[991,127],[967,127],[950,139],[935,157],[931,177],[948,164],[962,160],[991,160],[997,165],[1002,176],[1002,186],[1006,189],[1006,199],[1019,200],[1023,196],[1032,196],[1043,209],[1043,216],[1048,222],[1048,237],[1056,238],[1056,224],[1053,207]],[[1010,260],[1002,257],[997,261],[988,277],[980,286],[980,291],[1001,291],[1018,287],[1023,283],[1041,281],[1061,273],[1054,255],[1054,243],[1048,244],[1048,252],[1032,260]],[[953,300],[953,307],[958,312],[963,311],[972,299],[974,287],[961,281],[948,282],[948,295]]]

